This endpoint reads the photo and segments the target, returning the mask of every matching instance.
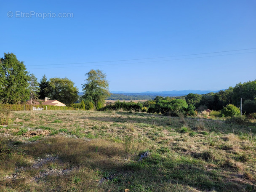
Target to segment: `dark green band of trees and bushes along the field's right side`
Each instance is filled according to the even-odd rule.
[[[218,93],[204,95],[189,93],[187,96],[176,98],[156,96],[152,100],[142,103],[125,103],[117,101],[108,104],[101,110],[133,110],[148,113],[161,113],[165,115],[195,115],[197,112],[205,112],[210,109],[216,116],[240,115],[240,101],[242,98],[243,114],[256,112],[256,80],[246,83],[238,83],[234,88],[229,87]]]

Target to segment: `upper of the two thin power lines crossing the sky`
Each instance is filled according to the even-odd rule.
[[[196,54],[178,55],[178,56],[151,57],[151,58],[142,58],[142,59],[125,59],[125,60],[114,60],[114,61],[94,61],[94,62],[64,63],[64,64],[45,64],[44,66],[47,66],[47,65],[70,65],[70,64],[107,63],[107,62],[118,62],[118,61],[135,61],[135,60],[144,60],[144,59],[161,59],[161,58],[169,58],[169,57],[194,56],[194,55],[203,55],[203,54],[212,54],[212,53],[224,53],[224,52],[232,52],[232,51],[245,51],[245,50],[252,50],[252,49],[256,49],[256,48],[237,49],[237,50],[229,50],[229,51],[217,51],[217,52],[208,52],[208,53],[196,53]],[[27,66],[38,66],[38,65],[27,65]]]

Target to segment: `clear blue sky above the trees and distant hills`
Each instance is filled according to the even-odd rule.
[[[106,73],[110,91],[256,79],[255,0],[5,0],[0,24],[0,57],[15,53],[38,81],[67,77],[80,91],[91,69]]]

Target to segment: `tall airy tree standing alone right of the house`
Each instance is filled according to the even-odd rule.
[[[99,109],[103,105],[104,99],[110,96],[106,74],[99,69],[91,69],[85,76],[87,78],[83,84],[83,99],[93,102],[94,108]]]

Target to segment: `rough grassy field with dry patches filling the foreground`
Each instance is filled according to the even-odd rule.
[[[256,191],[255,126],[122,111],[12,119],[0,126],[3,192]]]

